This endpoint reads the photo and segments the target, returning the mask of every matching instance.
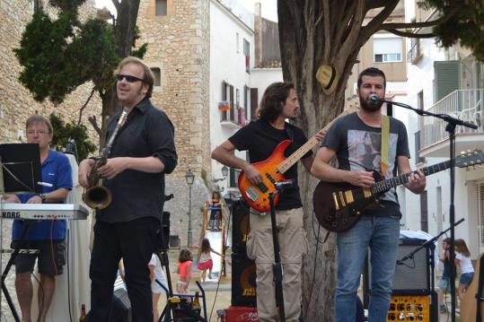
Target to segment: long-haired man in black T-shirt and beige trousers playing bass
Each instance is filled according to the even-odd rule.
[[[284,140],[292,143],[286,149],[286,157],[306,141],[303,130],[286,122],[294,119],[299,102],[292,83],[272,83],[264,92],[258,110],[258,119],[242,127],[212,152],[212,158],[228,167],[241,169],[254,184],[260,184],[260,171],[251,163],[265,161]],[[321,140],[324,131],[316,137]],[[250,162],[233,155],[233,151],[248,151]],[[302,158],[304,168],[311,169],[312,152]],[[277,166],[278,164],[275,164]],[[286,171],[285,177],[297,182],[297,163]],[[303,228],[303,205],[299,187],[287,187],[276,206],[280,256],[284,267],[284,306],[286,321],[298,321],[301,312],[301,265],[302,255],[307,251]],[[262,322],[277,321],[275,290],[272,274],[274,250],[270,215],[251,208],[251,234],[247,241],[247,255],[255,259],[257,266],[257,309]]]

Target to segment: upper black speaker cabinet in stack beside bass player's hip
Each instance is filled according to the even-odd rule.
[[[246,252],[246,242],[251,231],[250,208],[242,199],[233,203],[232,248],[233,253]]]

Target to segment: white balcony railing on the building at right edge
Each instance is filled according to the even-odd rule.
[[[428,109],[436,114],[448,114],[463,121],[478,126],[477,129],[457,126],[456,134],[462,133],[484,133],[484,110],[483,110],[484,89],[458,90],[453,91],[444,99],[439,100]],[[446,122],[436,117],[424,117],[424,127],[420,129],[420,146],[422,149],[444,141],[447,138],[445,132]]]

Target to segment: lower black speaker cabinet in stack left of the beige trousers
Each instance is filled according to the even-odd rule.
[[[255,262],[245,253],[232,254],[232,306],[257,307]]]

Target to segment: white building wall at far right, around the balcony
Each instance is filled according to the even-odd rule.
[[[406,0],[406,19],[410,21],[415,15],[415,0]],[[435,39],[420,39],[420,51],[422,57],[412,65],[408,63],[408,101],[412,107],[418,107],[418,93],[423,91],[424,109],[429,109],[435,101],[435,77],[434,62],[450,59],[467,57],[460,54],[457,48],[444,50],[437,48]],[[407,50],[410,49],[410,41],[407,42]],[[465,83],[465,82],[464,82]],[[471,83],[471,82],[469,82]],[[465,86],[465,84],[464,84]],[[471,87],[472,85],[468,86]],[[411,165],[415,167],[415,141],[414,133],[418,131],[418,122],[421,116],[415,115],[409,118],[408,132],[410,154],[412,155]],[[448,142],[447,142],[448,144]],[[427,167],[448,158],[426,158],[419,167]],[[477,189],[476,182],[484,177],[483,170],[455,169],[455,194],[454,209],[455,221],[464,218],[465,221],[455,227],[455,238],[464,239],[471,250],[471,257],[476,258],[480,254],[479,241],[479,216],[477,209]],[[427,177],[427,213],[428,213],[428,233],[436,235],[440,231],[449,228],[450,222],[450,171],[444,170]],[[405,226],[409,230],[418,231],[420,226],[420,196],[412,194],[409,190],[405,191],[406,218]],[[450,237],[450,233],[447,233]]]

